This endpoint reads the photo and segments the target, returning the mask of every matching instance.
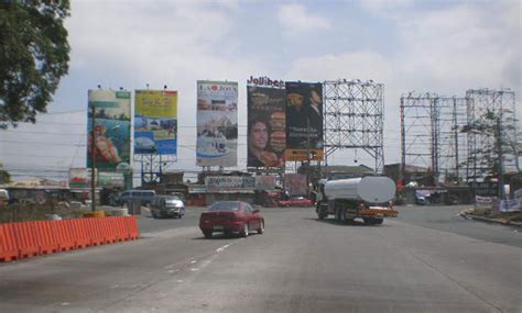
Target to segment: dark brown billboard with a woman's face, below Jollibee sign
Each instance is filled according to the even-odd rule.
[[[286,93],[281,88],[248,86],[248,167],[283,167],[286,145]]]

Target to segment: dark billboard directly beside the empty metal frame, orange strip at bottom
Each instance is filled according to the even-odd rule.
[[[286,82],[285,88],[285,159],[323,159],[323,83]]]

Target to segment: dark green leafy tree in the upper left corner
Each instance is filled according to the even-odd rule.
[[[36,122],[68,71],[69,0],[0,1],[0,125]]]

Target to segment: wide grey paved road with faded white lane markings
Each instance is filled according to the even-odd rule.
[[[143,219],[137,242],[0,265],[0,312],[522,312],[519,246],[413,210],[363,226],[265,209],[248,238],[204,239],[197,210]]]

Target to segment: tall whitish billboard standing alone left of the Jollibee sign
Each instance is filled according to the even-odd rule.
[[[238,83],[197,81],[197,166],[237,166]]]

